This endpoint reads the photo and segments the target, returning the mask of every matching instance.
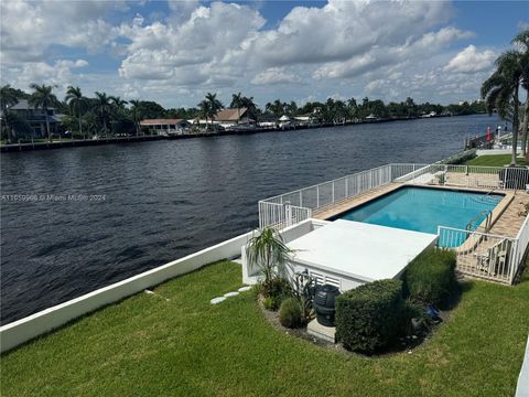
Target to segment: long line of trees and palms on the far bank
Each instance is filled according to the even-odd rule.
[[[204,100],[196,107],[190,108],[164,108],[152,100],[130,99],[125,100],[119,96],[96,92],[94,97],[85,96],[79,87],[68,86],[66,96],[60,100],[54,94],[56,86],[32,84],[31,93],[4,85],[0,88],[0,106],[2,109],[1,138],[2,140],[17,141],[33,133],[28,121],[10,108],[19,100],[25,99],[35,109],[45,112],[46,136],[52,140],[50,129],[48,110],[54,109],[61,114],[63,131],[72,132],[73,138],[89,138],[93,136],[112,137],[118,135],[134,136],[142,133],[140,121],[142,119],[171,118],[192,120],[199,118],[206,121],[206,128],[210,128],[218,110],[225,108],[217,98],[217,94],[207,93]],[[439,104],[415,104],[412,98],[404,101],[390,101],[385,104],[380,99],[371,100],[365,97],[357,101],[328,98],[326,101],[307,101],[298,105],[295,101],[282,101],[276,99],[267,103],[261,109],[252,97],[241,93],[234,94],[229,108],[246,108],[245,117],[259,122],[268,116],[279,119],[282,116],[296,117],[311,115],[317,122],[343,124],[346,121],[359,121],[366,117],[377,119],[408,119],[435,112],[436,115],[449,114],[454,116],[485,112],[482,101],[462,103],[457,105],[442,106]],[[240,116],[239,116],[240,118]]]

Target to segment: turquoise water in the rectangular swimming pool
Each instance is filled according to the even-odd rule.
[[[406,186],[335,218],[432,234],[438,234],[438,226],[467,229],[472,222],[469,229],[473,230],[503,197],[501,194]],[[439,245],[446,246],[446,243]]]

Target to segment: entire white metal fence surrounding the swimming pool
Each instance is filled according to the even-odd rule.
[[[390,183],[479,187],[489,190],[490,194],[494,191],[525,190],[529,183],[529,170],[481,165],[386,164],[262,200],[259,202],[259,227],[284,228],[294,225],[311,218],[315,212]],[[516,238],[450,227],[440,228],[439,235],[440,240],[479,242],[475,253],[462,254],[456,250],[457,267],[462,272],[511,283],[529,244],[529,225],[526,218]],[[486,258],[487,255],[496,254],[498,255],[492,259]]]

